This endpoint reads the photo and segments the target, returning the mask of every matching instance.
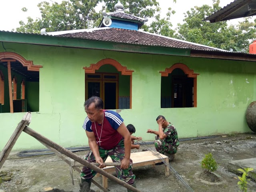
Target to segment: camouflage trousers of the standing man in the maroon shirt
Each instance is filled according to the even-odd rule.
[[[110,156],[112,159],[112,162],[121,162],[122,159],[124,158],[124,140],[122,139],[118,145],[110,150],[105,150],[99,147],[99,152],[100,152],[100,157],[103,159],[105,162],[107,157]],[[84,156],[84,159],[87,160],[88,162],[96,162],[95,157],[90,151],[86,156]],[[130,159],[130,166],[128,169],[121,169],[120,166],[116,166],[116,176],[120,180],[132,185],[135,182],[135,175],[132,172],[132,160]],[[89,180],[93,178],[96,175],[96,171],[83,167],[81,171],[81,178],[85,180]]]

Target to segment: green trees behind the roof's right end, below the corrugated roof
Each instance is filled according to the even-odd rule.
[[[195,6],[187,11],[184,18],[184,24],[178,24],[176,38],[229,50],[235,47],[242,51],[248,50],[252,39],[256,37],[255,21],[249,22],[248,18],[236,26],[228,26],[226,21],[210,23],[202,21],[207,16],[220,10],[220,0],[213,0],[213,7],[203,5]]]

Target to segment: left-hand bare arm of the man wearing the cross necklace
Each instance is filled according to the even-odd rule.
[[[92,150],[92,153],[95,157],[96,163],[100,164],[99,168],[104,168],[105,165],[103,164],[103,160],[100,157],[99,147],[96,142],[96,138],[93,132],[85,131],[86,135],[88,137],[88,143],[90,146],[90,149]]]

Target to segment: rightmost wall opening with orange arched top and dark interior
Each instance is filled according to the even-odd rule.
[[[161,108],[197,106],[197,73],[178,63],[161,73]]]

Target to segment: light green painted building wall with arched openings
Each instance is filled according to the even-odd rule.
[[[103,58],[117,60],[132,74],[132,109],[121,110],[125,124],[134,124],[136,136],[154,140],[146,134],[157,129],[156,116],[162,114],[178,130],[179,137],[250,132],[245,112],[256,100],[254,62],[134,54],[103,50],[63,48],[4,43],[40,69],[39,112],[32,112],[30,127],[64,146],[84,146],[88,140],[82,124],[84,112],[84,66]],[[0,52],[4,51],[0,48]],[[197,78],[197,108],[160,108],[161,74],[175,63],[186,64]],[[12,135],[24,113],[0,114],[0,149]],[[43,148],[22,133],[14,149]]]

